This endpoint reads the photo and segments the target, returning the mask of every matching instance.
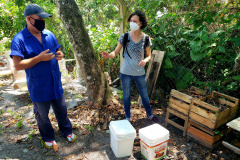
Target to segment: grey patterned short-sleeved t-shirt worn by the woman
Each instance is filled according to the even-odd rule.
[[[128,32],[129,33],[129,32]],[[143,38],[135,43],[131,36],[130,33],[128,34],[128,40],[130,40],[125,47],[125,50],[127,49],[130,57],[128,56],[127,52],[124,52],[124,59],[121,65],[120,72],[122,74],[130,75],[130,76],[141,76],[145,74],[145,69],[144,67],[141,67],[139,65],[139,62],[144,59],[144,41],[145,41],[145,36],[144,34]],[[119,43],[123,45],[123,37],[124,34],[122,34],[119,38]],[[149,38],[149,43],[148,46],[152,46],[151,39]]]

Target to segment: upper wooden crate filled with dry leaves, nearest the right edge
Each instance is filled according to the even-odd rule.
[[[216,106],[206,102],[207,98],[216,98],[218,103],[230,106],[220,111]],[[216,129],[236,117],[239,99],[213,91],[208,97],[198,100],[192,99],[189,119],[194,120],[210,129]]]

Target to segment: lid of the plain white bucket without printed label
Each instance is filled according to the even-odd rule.
[[[133,139],[136,137],[136,130],[128,120],[111,121],[109,128],[117,139]]]

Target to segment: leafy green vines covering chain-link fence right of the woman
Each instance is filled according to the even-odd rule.
[[[149,21],[145,32],[153,37],[152,49],[166,51],[158,83],[163,90],[196,85],[231,95],[239,88],[233,66],[240,52],[240,14],[230,13],[228,5],[214,7],[218,11],[206,6]]]

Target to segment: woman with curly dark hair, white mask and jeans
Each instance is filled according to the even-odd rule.
[[[151,59],[152,45],[150,38],[146,38],[146,34],[141,32],[147,26],[147,18],[142,11],[135,11],[132,13],[128,22],[130,22],[131,31],[127,34],[127,44],[124,47],[124,60],[120,69],[120,79],[123,87],[123,105],[126,114],[126,119],[130,121],[130,95],[131,95],[131,82],[134,79],[138,91],[142,98],[143,106],[147,112],[147,116],[155,123],[159,122],[158,118],[152,115],[150,101],[147,93],[147,82],[144,66]],[[119,38],[116,49],[108,54],[101,51],[103,58],[114,58],[120,52],[121,48],[125,45],[125,34]],[[146,43],[145,41],[148,41]],[[147,44],[145,47],[144,45]],[[144,57],[144,49],[146,48],[146,57]]]

